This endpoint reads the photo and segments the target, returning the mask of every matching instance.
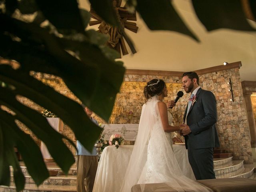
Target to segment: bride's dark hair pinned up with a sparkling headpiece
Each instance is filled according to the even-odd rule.
[[[146,99],[151,98],[154,95],[160,95],[164,89],[165,82],[162,79],[152,79],[144,87],[144,96]]]

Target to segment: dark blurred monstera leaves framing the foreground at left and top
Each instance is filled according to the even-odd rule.
[[[251,0],[192,0],[196,15],[208,31],[254,31],[246,20],[244,2],[255,16],[255,2]],[[112,0],[90,3],[103,20],[119,27],[132,45],[115,15]],[[138,11],[151,30],[172,30],[200,39],[186,26],[170,0],[128,0],[126,5],[129,10]],[[0,0],[0,106],[12,111],[0,109],[0,185],[10,185],[12,166],[17,191],[24,189],[25,178],[14,146],[37,185],[49,176],[39,147],[16,125],[16,120],[46,144],[66,174],[74,163],[63,139],[74,145],[72,141],[52,129],[40,112],[20,103],[17,96],[58,115],[88,150],[102,129],[90,121],[80,103],[108,121],[125,69],[122,62],[115,61],[118,53],[105,46],[108,36],[86,30],[89,20],[90,14],[81,10],[76,0]],[[80,102],[43,84],[30,75],[31,71],[62,78]]]

